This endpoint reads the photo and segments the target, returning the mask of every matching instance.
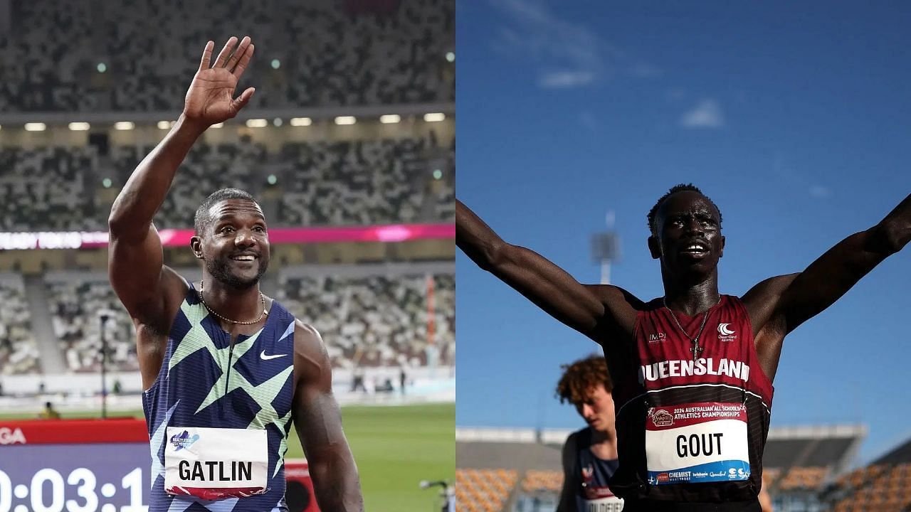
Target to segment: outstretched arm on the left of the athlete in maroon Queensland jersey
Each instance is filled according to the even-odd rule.
[[[602,343],[632,333],[640,301],[617,286],[581,284],[535,251],[503,241],[462,201],[455,201],[455,244],[558,321]]]

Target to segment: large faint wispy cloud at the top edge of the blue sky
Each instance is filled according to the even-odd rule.
[[[537,66],[537,86],[585,87],[609,77],[656,77],[657,67],[635,61],[582,23],[560,18],[547,0],[488,0],[506,15],[493,46],[510,58]]]

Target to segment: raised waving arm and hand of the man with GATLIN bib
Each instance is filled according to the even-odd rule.
[[[211,125],[237,115],[253,95],[249,88],[233,98],[234,88],[253,55],[250,37],[244,37],[240,46],[237,44],[237,37],[231,37],[211,67],[214,44],[210,41],[206,45],[200,68],[189,85],[183,113],[133,171],[108,218],[108,277],[136,324],[139,368],[146,389],[159,373],[163,357],[160,343],[166,338],[186,291],[186,283],[164,265],[152,218],[196,139]]]

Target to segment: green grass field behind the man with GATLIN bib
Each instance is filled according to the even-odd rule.
[[[63,417],[97,417],[97,411]],[[113,413],[111,415],[134,415]],[[421,489],[421,480],[455,481],[455,404],[352,405],[342,409],[345,435],[361,474],[364,508],[370,512],[434,510],[439,487]],[[35,415],[0,415],[0,419]],[[288,458],[303,456],[292,428]],[[438,510],[438,508],[436,508]]]

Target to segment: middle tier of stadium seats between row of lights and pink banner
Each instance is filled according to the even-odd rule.
[[[93,185],[101,176],[126,183],[151,149],[118,146],[105,158],[90,146],[0,149],[0,191],[9,198],[0,207],[0,230],[107,230],[110,208]],[[447,179],[432,178],[428,159],[436,154],[447,155]],[[436,148],[433,138],[294,143],[274,154],[249,137],[197,144],[155,222],[159,229],[192,227],[200,202],[217,189],[259,196],[263,169],[279,177],[272,227],[452,222],[452,168],[451,151]]]

